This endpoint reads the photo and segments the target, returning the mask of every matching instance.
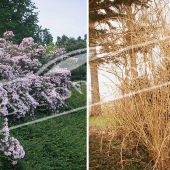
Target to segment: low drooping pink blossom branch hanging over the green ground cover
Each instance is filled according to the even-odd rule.
[[[25,151],[17,139],[9,136],[8,119],[4,118],[3,132],[0,135],[0,150],[15,165],[18,159],[24,158]]]

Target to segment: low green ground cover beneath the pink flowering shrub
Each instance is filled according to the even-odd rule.
[[[69,107],[65,110],[86,105],[84,85],[82,92],[72,89],[72,97],[67,101]],[[1,153],[1,170],[86,169],[86,109],[14,129],[10,134],[20,141],[26,155],[12,166]]]

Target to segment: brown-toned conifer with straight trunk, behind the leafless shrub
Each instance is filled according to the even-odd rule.
[[[90,60],[96,58],[97,46],[103,47],[104,52],[111,52],[111,51],[113,52],[116,50],[117,46],[119,46],[120,48],[120,45],[116,44],[117,37],[120,36],[120,32],[117,31],[116,26],[112,24],[112,21],[117,21],[118,19],[120,20],[121,18],[132,17],[132,15],[130,15],[130,11],[127,11],[125,9],[131,7],[132,5],[147,6],[147,2],[148,0],[144,0],[144,1],[142,0],[115,0],[115,1],[90,0],[89,2],[89,46],[90,46],[90,54],[91,54]],[[130,23],[128,23],[128,25],[131,28],[133,27],[133,25]],[[113,34],[113,30],[116,30],[117,33]],[[132,29],[129,32],[131,31]],[[111,41],[110,40],[108,41],[108,39],[111,39]],[[103,61],[101,60],[97,61],[97,60],[93,60],[90,62],[91,80],[96,80],[91,82],[92,104],[100,102],[98,67],[99,65],[101,65],[101,63],[105,63],[106,61],[105,59]],[[110,60],[114,61],[113,58],[111,58]],[[92,113],[91,113],[92,116],[100,115],[100,114],[101,114],[100,105],[92,107]]]

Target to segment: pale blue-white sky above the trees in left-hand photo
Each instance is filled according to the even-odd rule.
[[[87,0],[32,0],[39,11],[39,25],[49,28],[54,42],[65,34],[77,38],[87,33]]]

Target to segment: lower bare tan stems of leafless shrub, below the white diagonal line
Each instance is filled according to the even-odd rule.
[[[136,92],[139,90],[139,93],[122,98],[118,101],[118,105],[114,105],[114,119],[117,125],[127,129],[126,137],[133,134],[133,140],[137,141],[136,148],[139,142],[147,148],[154,161],[153,169],[168,170],[170,168],[170,85],[148,89],[145,92],[140,92],[141,85],[140,88],[137,85],[135,88],[134,90]],[[127,142],[125,138],[123,142]],[[123,142],[122,152],[126,148]]]

